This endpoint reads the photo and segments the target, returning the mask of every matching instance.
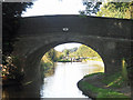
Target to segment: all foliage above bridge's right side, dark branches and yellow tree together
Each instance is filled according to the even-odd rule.
[[[131,2],[90,2],[83,0],[85,10],[80,14],[98,17],[111,17],[122,19],[133,19],[133,1]]]

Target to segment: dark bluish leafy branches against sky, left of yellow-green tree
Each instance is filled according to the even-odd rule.
[[[102,4],[102,2],[89,2],[83,0],[83,6],[85,6],[85,10],[79,12],[82,16],[96,14],[96,12],[100,10],[100,4]]]

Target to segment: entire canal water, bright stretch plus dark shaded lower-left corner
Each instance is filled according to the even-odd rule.
[[[88,98],[76,87],[79,80],[85,74],[103,72],[104,66],[100,61],[89,62],[57,62],[53,73],[43,79],[37,89],[31,87],[14,86],[2,90],[2,98]],[[33,89],[33,90],[32,90]],[[3,99],[4,100],[4,99]]]

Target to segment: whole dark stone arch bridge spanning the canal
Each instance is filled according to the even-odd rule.
[[[68,28],[68,31],[63,30]],[[122,59],[130,64],[131,20],[78,16],[23,18],[18,31],[14,63],[25,81],[38,79],[43,54],[61,43],[79,42],[94,49],[103,59],[106,73],[121,71]]]

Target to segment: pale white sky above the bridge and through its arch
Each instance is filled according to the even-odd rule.
[[[37,0],[31,9],[27,9],[22,17],[53,16],[53,14],[79,14],[85,7],[82,0]],[[80,47],[81,43],[64,43],[55,47],[58,51]]]

